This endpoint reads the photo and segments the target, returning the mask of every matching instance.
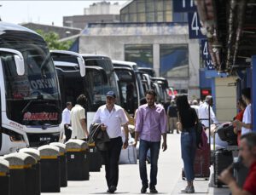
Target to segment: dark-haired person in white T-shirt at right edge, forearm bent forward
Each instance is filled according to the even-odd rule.
[[[233,123],[236,125],[236,128],[241,129],[241,135],[245,135],[252,131],[252,104],[251,104],[251,89],[246,88],[241,90],[241,98],[247,104],[245,111],[243,112],[242,122],[235,120]]]

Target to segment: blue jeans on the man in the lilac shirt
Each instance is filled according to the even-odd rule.
[[[150,149],[150,187],[156,185],[156,176],[157,176],[157,161],[159,157],[160,151],[160,141],[143,141],[140,140],[139,146],[139,169],[140,169],[140,176],[142,180],[143,186],[148,187],[148,175],[147,175],[147,166],[146,166],[146,159],[147,159],[147,152]]]

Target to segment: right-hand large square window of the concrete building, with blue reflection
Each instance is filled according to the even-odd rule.
[[[187,44],[160,44],[160,76],[189,77]]]

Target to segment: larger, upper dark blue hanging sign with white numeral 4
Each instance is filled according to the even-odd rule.
[[[201,33],[201,22],[197,12],[188,14],[189,16],[189,38],[206,38]]]

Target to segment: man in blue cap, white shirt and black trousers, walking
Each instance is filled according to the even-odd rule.
[[[102,130],[106,130],[110,141],[107,143],[108,150],[102,151],[105,160],[106,180],[108,192],[116,191],[119,180],[119,156],[122,146],[128,146],[128,118],[121,106],[115,105],[115,94],[108,91],[106,105],[100,106],[95,114],[93,123],[102,123]],[[125,129],[125,142],[122,141],[121,126]]]

